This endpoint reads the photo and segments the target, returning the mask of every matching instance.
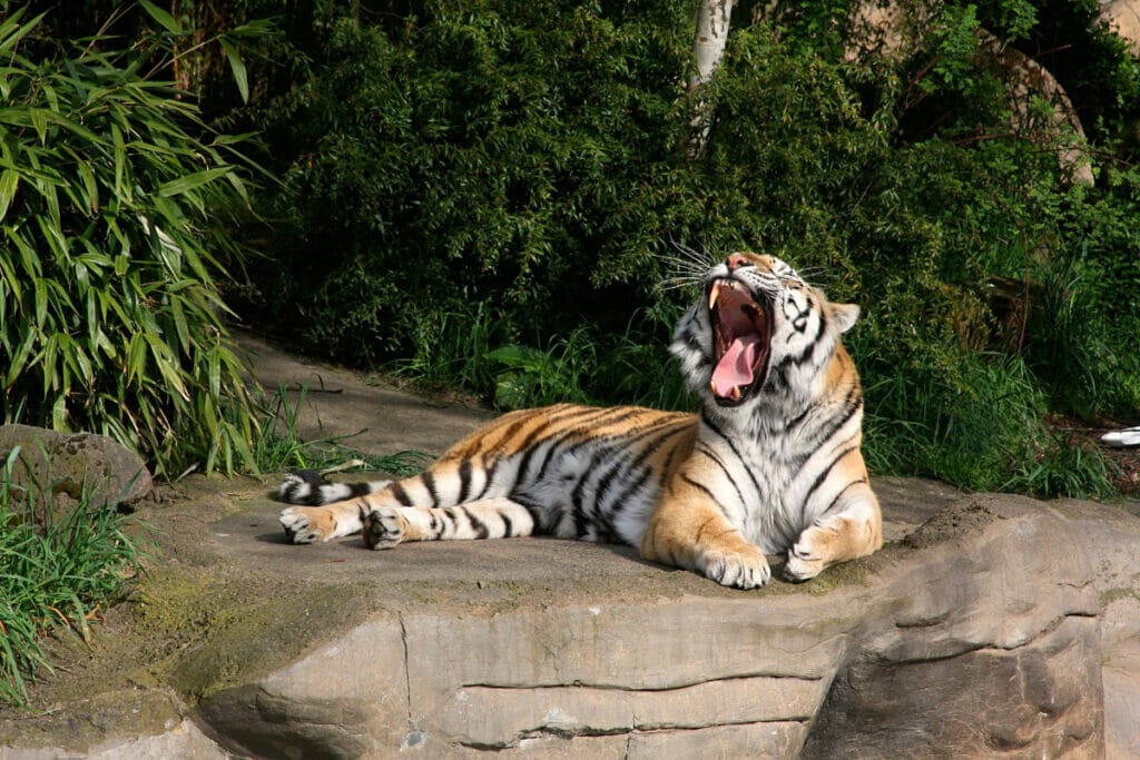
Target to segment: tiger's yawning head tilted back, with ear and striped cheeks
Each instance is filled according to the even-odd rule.
[[[858,313],[857,305],[828,301],[774,256],[733,253],[705,276],[703,297],[681,320],[670,349],[707,403],[805,395]]]

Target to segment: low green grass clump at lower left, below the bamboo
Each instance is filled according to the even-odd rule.
[[[50,670],[40,641],[68,629],[88,637],[88,621],[117,599],[140,570],[115,505],[87,499],[66,516],[33,523],[40,495],[11,485],[14,449],[0,473],[0,701],[23,703],[27,684]]]

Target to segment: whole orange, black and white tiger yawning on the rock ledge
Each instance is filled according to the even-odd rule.
[[[703,269],[703,268],[702,268]],[[361,532],[407,541],[515,538],[626,544],[662,565],[754,589],[815,578],[882,546],[862,455],[863,393],[832,303],[789,264],[736,252],[700,279],[670,351],[697,412],[577,404],[512,411],[398,481],[285,476],[288,540]]]

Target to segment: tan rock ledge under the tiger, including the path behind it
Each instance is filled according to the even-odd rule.
[[[310,385],[301,424],[369,452],[489,416],[243,345],[269,389],[342,389]],[[1140,752],[1140,520],[1115,506],[876,479],[882,551],[746,593],[546,538],[296,547],[276,482],[145,500],[149,572],[90,646],[50,641],[0,757]]]

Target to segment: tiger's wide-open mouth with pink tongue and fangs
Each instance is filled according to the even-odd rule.
[[[764,385],[772,345],[772,304],[752,297],[741,281],[725,278],[709,286],[712,322],[712,378],[709,386],[720,406],[742,403]]]

